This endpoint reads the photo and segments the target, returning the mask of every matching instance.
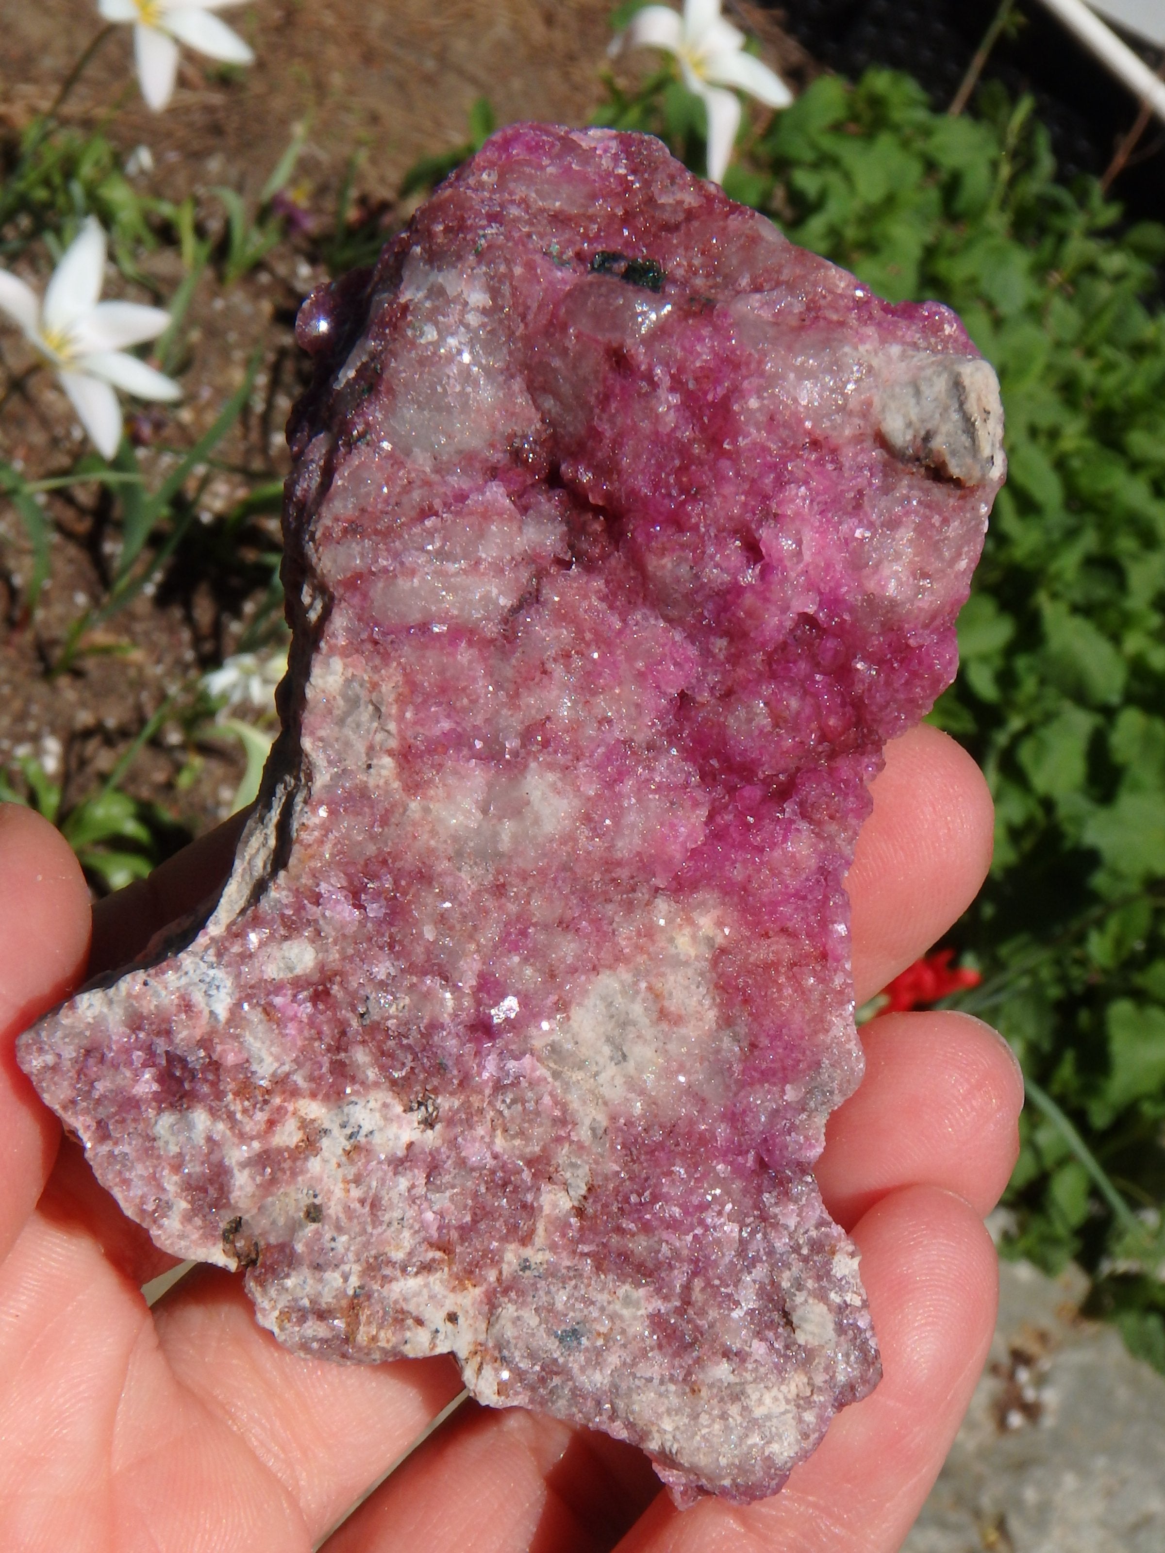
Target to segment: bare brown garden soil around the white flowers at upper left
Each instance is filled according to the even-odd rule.
[[[179,87],[165,113],[151,113],[132,76],[130,34],[118,28],[101,47],[68,99],[67,120],[106,126],[118,152],[148,146],[154,169],[135,182],[143,193],[202,199],[214,185],[255,197],[295,124],[308,138],[295,169],[295,199],[328,217],[353,152],[357,191],[385,210],[404,171],[421,155],[466,138],[466,113],[489,96],[499,121],[558,118],[581,123],[600,98],[596,65],[609,37],[606,0],[395,0],[363,5],[258,3],[231,12],[256,64],[225,73],[183,50]],[[90,0],[3,0],[0,23],[0,130],[19,132],[53,96],[99,20]],[[402,211],[405,214],[407,211]],[[0,773],[22,755],[40,759],[64,781],[64,808],[93,790],[140,733],[160,702],[199,671],[228,655],[261,599],[273,548],[275,517],[261,517],[225,565],[207,540],[216,516],[253,486],[286,471],[283,424],[300,382],[292,343],[295,309],[325,278],[294,242],[280,244],[241,281],[224,287],[203,276],[186,318],[185,398],[168,418],[137,418],[137,439],[190,446],[239,385],[252,351],[263,365],[244,419],[221,452],[241,471],[221,472],[202,499],[203,534],[190,537],[157,589],[135,599],[103,629],[89,632],[65,674],[51,666],[70,623],[104,595],[116,531],[112,503],[98,488],[48,500],[56,542],[53,575],[33,620],[22,609],[30,556],[14,511],[0,503]],[[47,255],[16,264],[43,284]],[[176,248],[160,247],[143,264],[157,298],[110,275],[107,294],[165,300],[182,280]],[[31,363],[11,331],[0,332],[0,393]],[[132,408],[132,407],[129,407]],[[0,410],[0,453],[28,477],[59,474],[82,450],[81,427],[47,374],[36,374]],[[172,457],[148,453],[160,478]],[[242,562],[242,564],[239,564]],[[242,756],[213,733],[191,744],[190,728],[165,725],[141,750],[126,780],[186,831],[219,818],[235,794]],[[180,839],[180,836],[177,837]]]

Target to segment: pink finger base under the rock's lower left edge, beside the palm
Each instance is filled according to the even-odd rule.
[[[155,1308],[169,1371],[297,1503],[317,1539],[461,1390],[450,1359],[342,1365],[281,1348],[241,1280],[203,1269]]]

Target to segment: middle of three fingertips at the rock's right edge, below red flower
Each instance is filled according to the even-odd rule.
[[[954,1191],[980,1218],[1019,1154],[1024,1078],[1010,1047],[968,1014],[885,1014],[862,1027],[865,1078],[825,1131],[817,1183],[848,1228],[889,1191]]]

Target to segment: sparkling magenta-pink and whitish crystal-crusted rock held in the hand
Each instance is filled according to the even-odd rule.
[[[519,126],[315,292],[284,731],[205,926],[20,1062],[303,1353],[780,1488],[878,1381],[812,1176],[843,877],[1002,480],[957,318],[648,137]]]

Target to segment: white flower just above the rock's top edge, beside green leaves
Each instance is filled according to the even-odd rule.
[[[744,33],[721,16],[721,0],[683,0],[683,16],[669,6],[649,5],[637,11],[624,33],[612,43],[665,48],[679,61],[683,84],[704,99],[708,113],[708,177],[719,183],[729,166],[741,101],[733,90],[747,92],[767,107],[788,107],[792,92],[781,78],[752,54],[744,53]]]

